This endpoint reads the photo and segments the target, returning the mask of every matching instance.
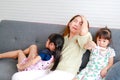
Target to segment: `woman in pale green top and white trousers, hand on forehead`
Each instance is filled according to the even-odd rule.
[[[63,33],[65,42],[62,50],[61,60],[55,71],[49,74],[36,74],[33,72],[18,72],[13,75],[12,80],[71,80],[77,74],[82,62],[84,45],[92,40],[88,31],[89,24],[84,16],[76,15],[67,24]],[[41,74],[42,73],[42,74]],[[30,76],[32,75],[32,76]],[[35,76],[34,76],[35,75]],[[31,77],[31,78],[29,78]]]

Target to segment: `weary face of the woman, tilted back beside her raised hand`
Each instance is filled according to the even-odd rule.
[[[79,34],[81,26],[82,19],[80,16],[78,16],[69,23],[70,32],[73,34]]]

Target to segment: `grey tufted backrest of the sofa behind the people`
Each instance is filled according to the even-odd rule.
[[[31,44],[44,47],[47,37],[51,33],[63,33],[65,25],[2,20],[0,22],[0,53],[16,49],[25,49]],[[94,38],[99,28],[90,27]],[[115,62],[120,60],[120,29],[112,29],[112,43],[116,51]]]

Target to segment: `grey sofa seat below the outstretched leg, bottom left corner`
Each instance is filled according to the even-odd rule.
[[[17,71],[17,60],[0,59],[0,80],[11,80],[11,76]]]

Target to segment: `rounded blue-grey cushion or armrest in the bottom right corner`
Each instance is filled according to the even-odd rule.
[[[120,61],[116,62],[108,71],[105,80],[120,80]]]

